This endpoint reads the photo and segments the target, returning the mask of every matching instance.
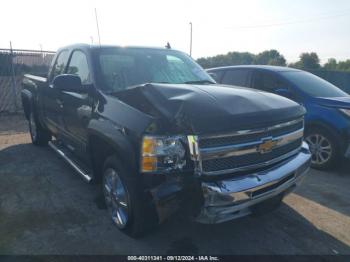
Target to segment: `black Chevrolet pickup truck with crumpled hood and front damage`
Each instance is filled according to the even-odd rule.
[[[219,223],[269,210],[309,168],[302,106],[218,85],[169,48],[64,47],[21,95],[33,144],[99,182],[131,236],[175,212]]]

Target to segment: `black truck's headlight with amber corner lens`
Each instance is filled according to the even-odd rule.
[[[141,172],[182,169],[186,165],[184,141],[182,136],[144,136]]]

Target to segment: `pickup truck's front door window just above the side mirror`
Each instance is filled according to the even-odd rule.
[[[90,84],[90,70],[86,55],[81,51],[74,51],[70,59],[67,74],[78,75],[82,84]]]

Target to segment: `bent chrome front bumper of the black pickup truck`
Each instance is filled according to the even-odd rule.
[[[196,220],[215,224],[250,214],[251,207],[289,193],[309,170],[311,153],[303,142],[300,152],[273,168],[215,182],[202,182],[204,205]]]

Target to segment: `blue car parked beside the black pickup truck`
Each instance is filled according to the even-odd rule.
[[[207,71],[219,83],[276,93],[304,105],[312,167],[327,169],[350,157],[350,96],[338,87],[288,67],[229,66]]]

